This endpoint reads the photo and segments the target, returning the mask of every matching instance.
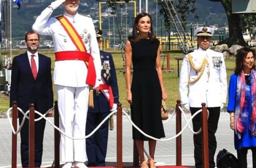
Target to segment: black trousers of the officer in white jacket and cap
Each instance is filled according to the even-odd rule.
[[[201,108],[190,108],[191,115],[196,113]],[[208,144],[209,144],[209,167],[214,168],[214,155],[217,148],[217,141],[215,133],[218,128],[220,107],[207,108],[209,110],[208,118]],[[196,132],[201,128],[201,112],[197,114],[193,119],[193,130]],[[193,135],[194,140],[194,160],[196,168],[202,168],[202,133]]]

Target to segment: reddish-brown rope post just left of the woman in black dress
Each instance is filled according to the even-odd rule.
[[[122,104],[117,105],[117,168],[123,167],[123,126],[122,126]]]

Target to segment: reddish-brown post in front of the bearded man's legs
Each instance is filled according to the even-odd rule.
[[[34,168],[34,104],[30,103],[29,113],[29,168]]]

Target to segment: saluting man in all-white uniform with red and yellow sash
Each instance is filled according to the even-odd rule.
[[[92,85],[97,87],[101,78],[100,52],[94,24],[90,17],[77,12],[79,2],[79,0],[52,2],[38,16],[32,27],[40,35],[53,37],[55,46],[54,84],[58,97],[60,128],[66,134],[76,138],[85,136],[90,88],[86,81],[87,79],[94,80]],[[71,32],[75,29],[76,33],[70,33],[60,23],[58,19],[63,16],[49,19],[53,10],[60,5],[65,7],[63,16],[68,20],[68,25],[71,25]],[[74,40],[75,37],[72,39],[71,36],[75,36],[79,40]],[[81,48],[81,46],[84,47]],[[83,48],[86,48],[85,52],[82,52]],[[94,75],[89,75],[91,70],[88,71],[85,63],[87,60],[84,60],[85,56],[88,59],[93,58]],[[88,66],[90,65],[92,64],[89,62]],[[85,139],[72,140],[62,134],[60,145],[62,161],[65,162],[64,168],[70,168],[72,164],[74,167],[86,168],[84,164],[86,161]]]

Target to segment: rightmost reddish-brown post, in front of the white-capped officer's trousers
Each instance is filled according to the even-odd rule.
[[[202,103],[202,115],[201,115],[201,123],[202,123],[202,160],[203,160],[203,168],[209,167],[209,151],[208,151],[208,121],[207,121],[207,108],[206,104]]]

